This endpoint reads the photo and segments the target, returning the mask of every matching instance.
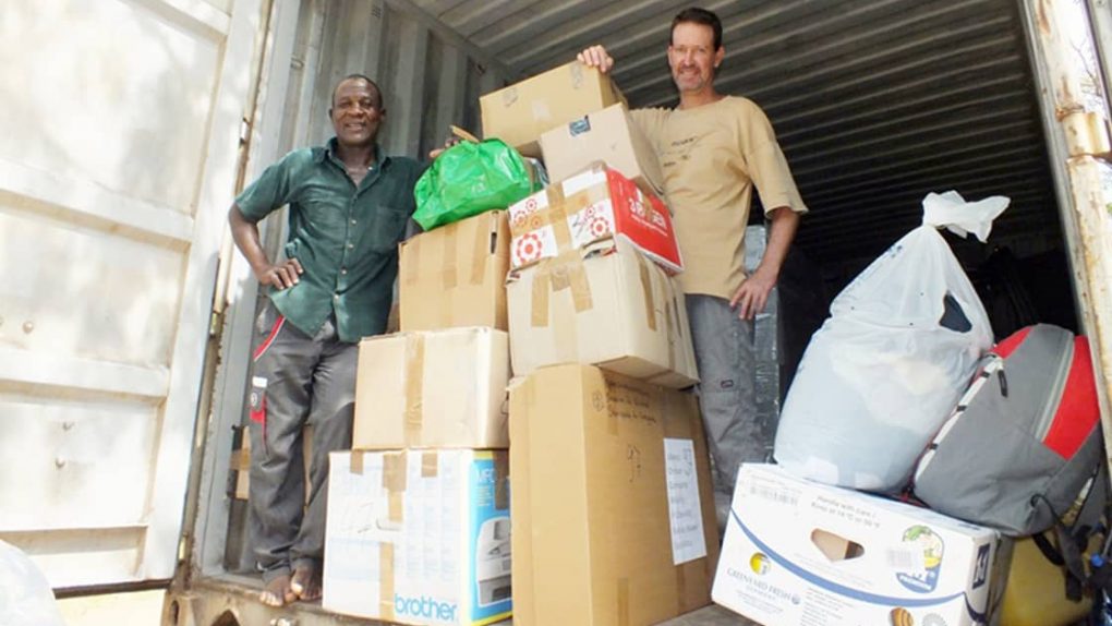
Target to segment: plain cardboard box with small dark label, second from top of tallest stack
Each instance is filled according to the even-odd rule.
[[[646,192],[664,196],[664,173],[656,151],[624,105],[587,113],[543,133],[540,151],[552,180],[564,180],[600,160]]]

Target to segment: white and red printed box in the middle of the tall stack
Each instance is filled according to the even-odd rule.
[[[664,202],[602,161],[512,205],[509,229],[513,268],[616,236],[673,274],[684,268]]]

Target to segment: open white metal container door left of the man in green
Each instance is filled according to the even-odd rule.
[[[169,578],[262,0],[0,13],[0,539]]]

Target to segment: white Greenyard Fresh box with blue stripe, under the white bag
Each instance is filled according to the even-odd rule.
[[[986,624],[1005,544],[929,509],[746,464],[714,602],[765,626]]]

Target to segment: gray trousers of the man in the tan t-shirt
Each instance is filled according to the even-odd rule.
[[[694,294],[686,301],[714,489],[732,494],[738,466],[766,461],[772,450],[757,420],[753,322],[723,298]]]

